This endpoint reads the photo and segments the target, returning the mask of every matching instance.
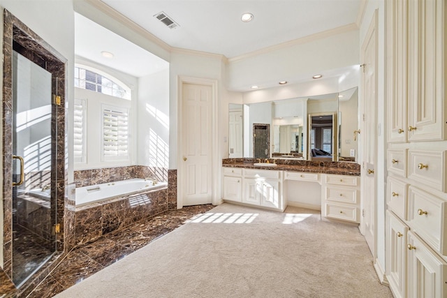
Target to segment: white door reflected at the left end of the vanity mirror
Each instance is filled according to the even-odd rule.
[[[228,112],[228,150],[230,158],[242,158],[243,156],[243,125],[244,117],[242,105],[230,103]]]

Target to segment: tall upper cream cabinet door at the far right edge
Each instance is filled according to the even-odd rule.
[[[408,140],[446,140],[446,1],[408,3]]]

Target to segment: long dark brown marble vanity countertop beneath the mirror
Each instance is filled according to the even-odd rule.
[[[292,159],[268,158],[270,163],[276,163],[276,167],[258,167],[254,163],[259,158],[224,158],[223,167],[244,167],[249,169],[281,170],[295,172],[313,172],[322,174],[342,174],[360,176],[360,165],[358,163],[340,163],[337,161],[299,161]],[[265,162],[262,159],[261,162]]]

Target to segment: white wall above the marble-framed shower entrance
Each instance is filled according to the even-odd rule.
[[[2,11],[3,8],[9,10],[10,13],[24,22],[27,27],[68,59],[66,64],[68,83],[66,90],[68,97],[66,99],[68,99],[68,102],[72,101],[74,61],[73,2],[0,0],[0,7]],[[0,20],[3,27],[3,13]],[[3,32],[3,30],[1,31]],[[0,45],[3,47],[3,38],[0,41]],[[3,69],[3,62],[0,61],[0,64],[1,69]],[[0,84],[2,83],[0,82]],[[1,144],[0,149],[3,149],[3,144]],[[3,180],[3,177],[0,176],[0,179]],[[1,185],[3,184],[0,184],[0,191],[3,192]],[[0,200],[0,210],[3,210],[2,202],[3,200]],[[3,267],[3,212],[0,212],[0,265]]]

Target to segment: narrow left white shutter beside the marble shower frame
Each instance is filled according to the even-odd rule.
[[[85,163],[86,100],[75,98],[73,121],[73,156],[75,163]]]

